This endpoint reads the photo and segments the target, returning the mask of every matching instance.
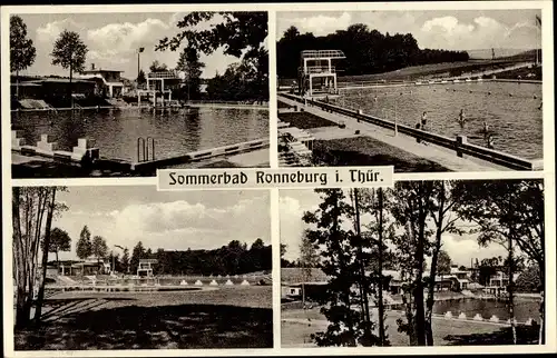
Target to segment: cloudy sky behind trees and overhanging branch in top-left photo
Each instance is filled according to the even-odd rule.
[[[148,71],[154,60],[176,67],[180,49],[176,51],[155,51],[155,46],[165,37],[172,38],[179,32],[177,22],[185,12],[149,12],[149,13],[46,13],[19,14],[27,24],[28,37],[37,48],[35,63],[22,74],[57,74],[69,76],[68,70],[51,64],[52,47],[59,33],[63,30],[79,33],[88,47],[86,69],[91,63],[96,68],[124,71],[123,77],[137,77],[137,49],[145,47],[140,54],[140,68]],[[195,29],[208,29],[217,23],[215,17]],[[215,72],[223,73],[228,64],[240,61],[233,56],[225,56],[218,49],[211,56],[201,53],[199,60],[205,63],[202,77],[213,78]]]

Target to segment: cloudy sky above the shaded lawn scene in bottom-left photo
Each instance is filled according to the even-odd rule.
[[[261,238],[271,245],[268,191],[157,191],[153,186],[70,187],[57,199],[69,210],[52,222],[71,238],[71,251],[60,259],[77,259],[76,243],[84,226],[91,237],[106,239],[131,252],[140,240],[145,248],[166,250],[215,249],[231,240],[250,247]],[[131,253],[130,253],[131,255]],[[50,255],[55,259],[55,255]]]

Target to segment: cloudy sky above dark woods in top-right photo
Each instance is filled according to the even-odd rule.
[[[381,33],[412,33],[418,46],[429,49],[482,50],[491,48],[534,49],[540,46],[536,14],[539,10],[458,11],[351,11],[277,12],[276,40],[295,26],[315,36],[364,23]]]

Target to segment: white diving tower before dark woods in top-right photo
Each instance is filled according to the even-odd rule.
[[[333,60],[345,59],[341,50],[305,50],[300,52],[300,95],[336,93],[336,68]]]

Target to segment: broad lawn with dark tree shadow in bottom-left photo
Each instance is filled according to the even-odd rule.
[[[273,346],[271,286],[175,292],[63,292],[17,350],[265,348]]]

